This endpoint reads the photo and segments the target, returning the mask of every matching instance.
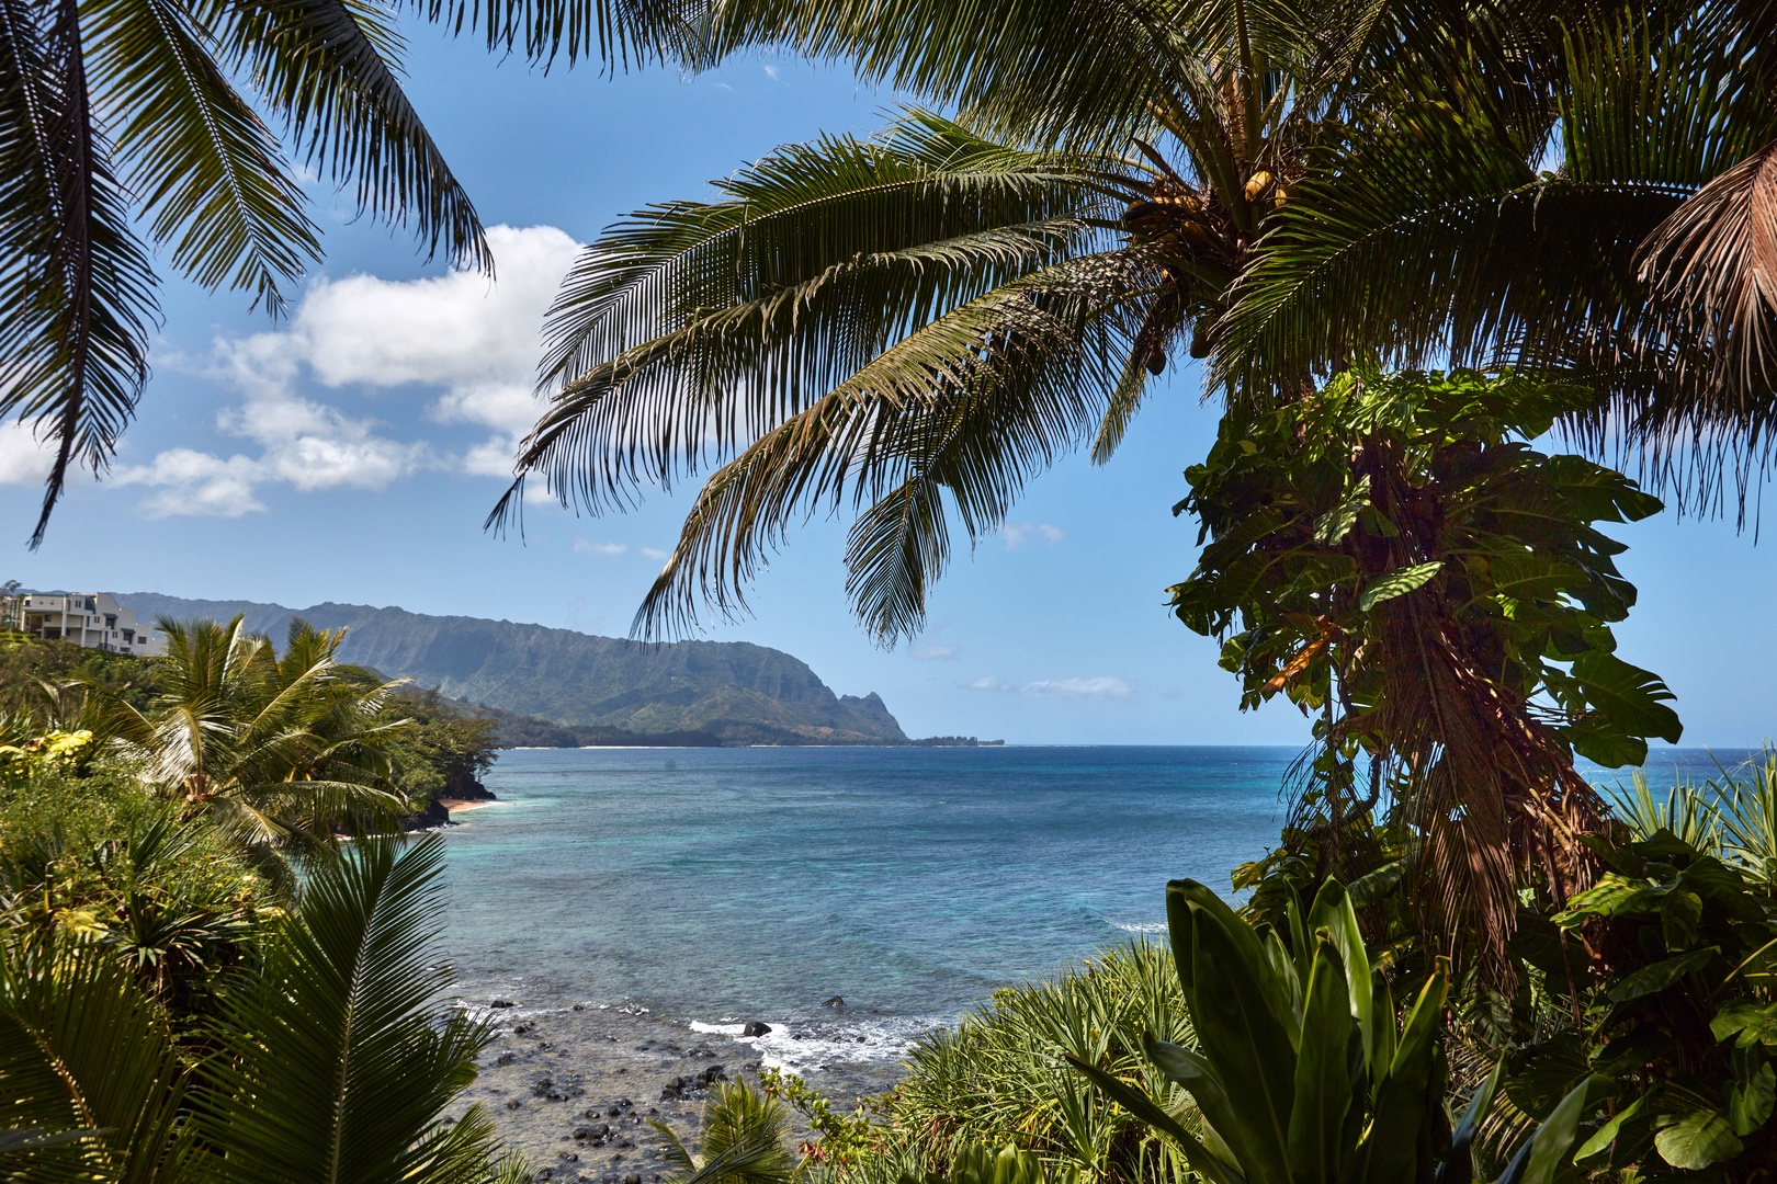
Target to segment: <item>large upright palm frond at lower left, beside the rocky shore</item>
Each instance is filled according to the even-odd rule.
[[[320,861],[252,989],[226,1008],[201,1129],[229,1180],[402,1180],[496,1173],[485,1129],[442,1111],[489,1031],[437,998],[442,843],[364,836]],[[483,1159],[476,1161],[476,1156]],[[476,1161],[464,1172],[464,1157]],[[480,1175],[476,1175],[480,1172]]]

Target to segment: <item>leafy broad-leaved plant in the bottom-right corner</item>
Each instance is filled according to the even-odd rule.
[[[1777,1097],[1772,896],[1670,831],[1589,841],[1610,872],[1553,918],[1589,973],[1553,943],[1526,946],[1557,1022],[1507,1054],[1505,1097],[1532,1118],[1564,1111],[1583,1136],[1567,1159],[1587,1172],[1763,1179]]]

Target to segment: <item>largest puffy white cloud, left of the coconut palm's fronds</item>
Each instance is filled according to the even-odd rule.
[[[119,481],[162,488],[144,511],[169,515],[263,509],[252,490],[268,483],[379,490],[421,469],[510,478],[517,442],[542,407],[531,383],[544,311],[579,245],[549,225],[496,225],[487,240],[498,282],[473,272],[323,277],[309,284],[284,328],[219,339],[199,369],[242,394],[240,407],[219,415],[219,428],[258,444],[259,456],[172,449],[119,472]],[[428,387],[437,392],[426,407],[432,421],[490,435],[462,454],[442,454],[426,440],[394,440],[375,419],[297,394],[304,380],[329,389]],[[0,438],[0,474],[5,449]]]

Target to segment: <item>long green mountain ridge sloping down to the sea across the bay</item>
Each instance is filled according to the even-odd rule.
[[[117,593],[139,620],[229,620],[283,637],[291,618],[345,627],[341,657],[391,678],[567,724],[613,744],[906,744],[874,692],[835,696],[809,666],[745,641],[643,646],[567,628],[405,609],[318,604],[286,609],[245,600]]]

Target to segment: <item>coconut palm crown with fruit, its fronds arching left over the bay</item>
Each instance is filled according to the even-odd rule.
[[[549,314],[560,391],[489,522],[519,522],[531,476],[597,513],[714,463],[638,632],[745,609],[793,522],[849,506],[848,593],[883,643],[920,628],[952,524],[990,534],[1088,438],[1105,460],[1150,376],[1215,348],[1374,96],[1471,60],[1521,89],[1555,28],[1347,0],[732,0],[707,27],[711,57],[789,44],[960,114],[784,147],[611,227]]]

